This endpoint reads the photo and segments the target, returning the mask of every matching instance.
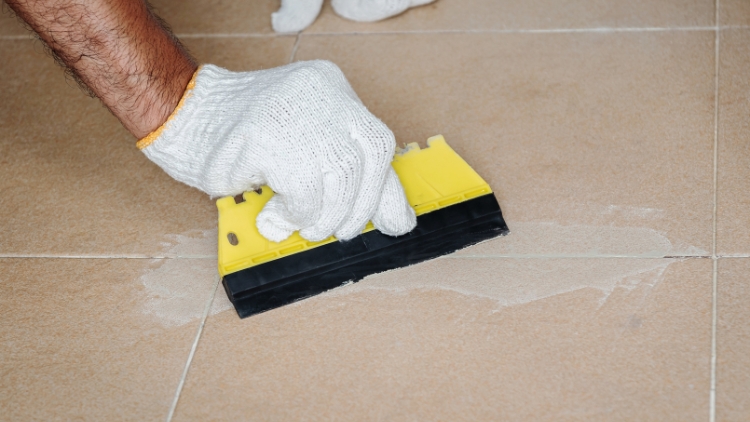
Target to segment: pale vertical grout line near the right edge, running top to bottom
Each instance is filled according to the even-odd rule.
[[[714,6],[714,172],[713,172],[713,209],[712,209],[712,242],[711,242],[711,384],[709,387],[709,402],[708,402],[708,420],[709,422],[716,421],[716,336],[717,336],[717,321],[718,317],[718,270],[719,270],[719,258],[716,254],[716,227],[717,227],[717,215],[718,215],[718,201],[719,201],[719,53],[720,53],[720,40],[721,40],[721,27],[719,25],[719,12],[720,12],[720,0],[716,0]]]

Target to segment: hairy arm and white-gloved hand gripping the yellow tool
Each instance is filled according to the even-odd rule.
[[[209,195],[268,184],[257,219],[281,241],[416,224],[390,166],[395,139],[330,62],[199,70],[142,0],[6,0],[176,180]]]

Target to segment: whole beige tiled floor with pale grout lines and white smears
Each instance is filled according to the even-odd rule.
[[[202,62],[335,61],[512,234],[239,320],[213,202],[5,8],[0,420],[750,420],[746,0],[326,6],[299,35],[278,0],[153,3]]]

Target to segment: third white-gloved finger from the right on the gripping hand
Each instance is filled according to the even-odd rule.
[[[323,201],[318,221],[300,235],[317,242],[334,233],[349,217],[361,182],[362,160],[356,145],[341,143],[331,151],[329,168],[323,172]]]

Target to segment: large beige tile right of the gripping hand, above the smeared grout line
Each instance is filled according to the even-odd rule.
[[[442,133],[511,235],[474,254],[711,249],[711,32],[303,36],[401,143]],[[576,240],[571,240],[575,236]]]

